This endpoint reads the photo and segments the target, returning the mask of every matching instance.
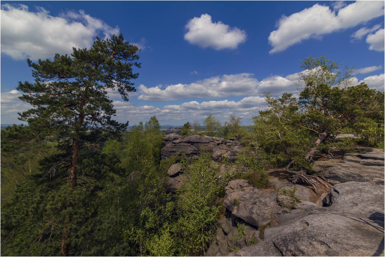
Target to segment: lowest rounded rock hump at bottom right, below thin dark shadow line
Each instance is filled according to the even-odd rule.
[[[283,256],[373,256],[383,251],[383,235],[372,220],[315,213],[286,226],[272,241]]]

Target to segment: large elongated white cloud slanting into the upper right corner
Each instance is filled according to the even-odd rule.
[[[368,22],[384,15],[383,8],[383,1],[356,1],[337,13],[337,10],[316,3],[290,16],[283,15],[277,21],[278,29],[269,35],[269,44],[273,47],[269,53],[281,52],[302,40],[321,39],[325,34]]]

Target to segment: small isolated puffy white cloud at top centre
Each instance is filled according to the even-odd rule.
[[[212,47],[215,50],[236,49],[247,37],[244,30],[231,28],[220,21],[213,22],[207,13],[189,20],[185,28],[188,30],[184,34],[185,40],[202,48]]]

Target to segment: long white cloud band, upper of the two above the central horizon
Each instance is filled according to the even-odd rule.
[[[289,80],[290,76],[269,76],[258,81],[251,73],[230,74],[210,77],[191,84],[169,85],[164,89],[158,86],[139,86],[139,100],[146,101],[175,101],[178,99],[222,98],[229,96],[259,96],[264,91],[275,94],[296,92],[296,86]]]

